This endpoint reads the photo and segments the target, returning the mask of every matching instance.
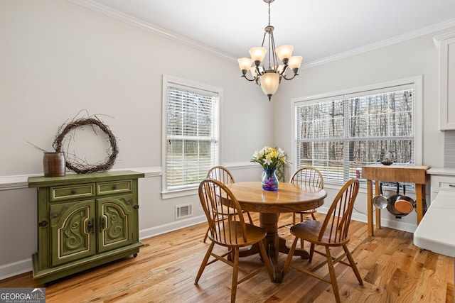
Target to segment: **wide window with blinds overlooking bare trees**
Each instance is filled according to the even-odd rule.
[[[324,182],[341,184],[387,154],[397,164],[418,164],[419,79],[296,100],[296,168],[317,167]]]

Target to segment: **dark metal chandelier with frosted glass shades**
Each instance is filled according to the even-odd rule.
[[[237,61],[239,62],[240,70],[242,70],[242,77],[248,81],[255,81],[256,84],[262,88],[262,92],[269,97],[269,101],[271,101],[273,94],[277,92],[282,78],[291,80],[299,75],[297,72],[299,71],[302,57],[292,55],[292,51],[294,50],[294,46],[292,45],[282,45],[279,48],[275,48],[275,40],[273,36],[274,27],[270,25],[270,4],[274,0],[263,1],[269,4],[269,25],[267,25],[264,29],[262,45],[260,47],[258,46],[250,49],[251,58],[242,57]],[[264,48],[267,35],[268,66],[266,67],[263,61],[265,55],[267,55],[267,49]],[[282,61],[282,65],[279,65],[277,56],[279,60]],[[292,70],[293,75],[286,75],[288,69]],[[252,77],[252,79],[247,77],[248,71],[250,71],[250,77]]]

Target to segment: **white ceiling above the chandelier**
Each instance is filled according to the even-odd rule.
[[[71,0],[102,4],[219,50],[249,57],[268,24],[263,0]],[[455,26],[454,0],[275,0],[277,47],[294,45],[303,64]]]

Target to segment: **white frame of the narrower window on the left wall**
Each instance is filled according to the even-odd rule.
[[[208,84],[202,84],[198,82],[193,82],[187,79],[181,79],[178,77],[171,77],[168,75],[163,75],[163,92],[162,92],[162,143],[161,143],[161,167],[162,169],[162,178],[161,178],[161,197],[163,199],[171,199],[174,197],[183,197],[193,194],[198,194],[198,185],[193,187],[188,187],[184,189],[167,189],[167,115],[168,115],[168,87],[182,87],[184,89],[193,90],[195,92],[207,92],[208,94],[218,95],[218,106],[215,110],[215,116],[218,120],[218,126],[216,127],[215,137],[218,138],[218,154],[215,155],[214,162],[218,164],[220,159],[220,104],[223,100],[223,89],[219,87],[213,87]]]

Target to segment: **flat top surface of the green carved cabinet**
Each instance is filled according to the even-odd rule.
[[[64,177],[29,177],[28,187],[48,187],[60,184],[75,184],[85,182],[103,182],[111,180],[137,179],[144,177],[142,172],[121,170],[114,172],[93,172],[90,174],[71,174]]]

